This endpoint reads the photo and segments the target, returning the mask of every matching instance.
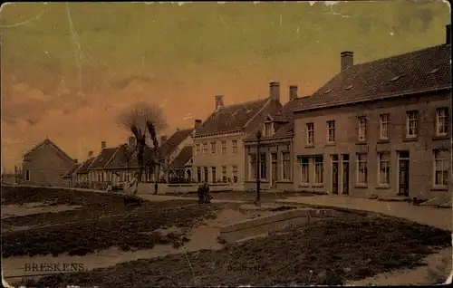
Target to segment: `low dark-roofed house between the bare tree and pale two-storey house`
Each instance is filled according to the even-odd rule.
[[[193,146],[192,134],[200,124],[201,120],[195,120],[194,128],[177,130],[169,139],[162,141],[160,162],[167,181],[192,180],[192,168],[186,167],[186,164],[192,158],[192,153],[188,152]],[[181,163],[182,161],[184,163]]]

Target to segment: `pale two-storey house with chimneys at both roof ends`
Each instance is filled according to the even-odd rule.
[[[193,168],[198,182],[234,182],[248,178],[243,140],[253,136],[269,114],[282,109],[278,82],[270,83],[269,97],[224,106],[216,96],[216,110],[195,131]]]

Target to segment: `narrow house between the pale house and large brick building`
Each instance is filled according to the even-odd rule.
[[[261,188],[293,190],[293,110],[304,106],[308,97],[297,97],[297,86],[289,88],[289,101],[275,114],[269,114],[254,133],[244,139],[246,190],[256,188],[258,171],[256,132],[261,131],[259,177]]]

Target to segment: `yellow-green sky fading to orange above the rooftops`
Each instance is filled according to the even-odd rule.
[[[441,0],[3,5],[2,169],[46,137],[72,158],[124,142],[118,115],[162,105],[172,133],[280,82],[308,95],[354,62],[445,43]]]

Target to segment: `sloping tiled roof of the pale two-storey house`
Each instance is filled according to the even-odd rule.
[[[195,135],[242,130],[270,102],[269,98],[224,106],[212,113]]]

